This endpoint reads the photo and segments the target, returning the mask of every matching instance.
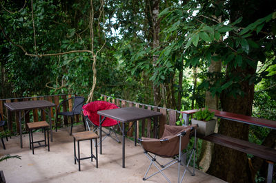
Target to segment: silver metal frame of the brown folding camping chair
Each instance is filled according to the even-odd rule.
[[[193,143],[193,148],[190,149],[190,150],[188,150],[188,151],[186,151],[186,153],[182,152],[182,149],[181,149],[181,138],[186,135],[186,131],[184,131],[182,133],[179,133],[177,135],[179,137],[179,154],[175,156],[175,159],[171,160],[167,164],[164,164],[164,165],[160,164],[156,160],[156,156],[157,155],[155,155],[154,153],[152,153],[152,154],[154,154],[154,156],[152,156],[150,154],[150,152],[148,152],[148,151],[145,150],[144,154],[146,155],[146,157],[148,158],[148,160],[150,160],[150,166],[148,166],[148,169],[147,169],[147,171],[146,171],[146,173],[145,173],[145,175],[143,177],[143,180],[148,180],[153,175],[156,175],[157,173],[161,173],[166,178],[166,180],[168,182],[170,182],[169,178],[164,174],[163,171],[165,169],[168,169],[170,166],[172,166],[173,164],[176,164],[176,163],[178,163],[178,173],[177,173],[177,175],[178,175],[177,182],[178,183],[183,181],[184,176],[185,176],[187,170],[190,172],[191,175],[194,176],[195,175],[195,153],[196,153],[196,144],[197,144],[197,129],[193,128],[193,130],[195,130],[195,132],[194,132],[195,140],[194,140],[194,143]],[[140,140],[140,141],[143,141],[143,140]],[[166,141],[168,141],[168,139],[162,139],[162,140],[160,139],[160,142],[166,142]],[[188,158],[188,162],[185,163],[186,159],[184,160],[183,157],[185,155],[188,155],[188,153],[190,153],[190,156]],[[190,164],[190,161],[192,160],[192,157],[193,157],[193,172],[190,171],[190,169],[188,167],[188,165]],[[146,177],[148,175],[148,171],[150,171],[150,167],[152,166],[152,164],[155,165],[155,167],[158,169],[158,171],[156,171],[155,173],[152,173],[152,175],[149,175],[148,177]],[[185,166],[184,173],[182,174],[181,180],[179,180],[179,178],[180,178],[180,165]],[[159,168],[159,166],[160,166],[160,168]]]

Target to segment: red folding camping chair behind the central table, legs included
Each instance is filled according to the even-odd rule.
[[[83,105],[82,112],[84,116],[84,120],[86,121],[86,126],[88,127],[88,130],[91,131],[90,125],[92,125],[93,132],[97,132],[99,130],[99,114],[97,114],[97,111],[103,111],[108,109],[117,109],[117,105],[113,103],[108,103],[106,101],[97,100],[92,103],[88,103],[86,105]],[[102,124],[101,127],[109,127],[108,133],[106,131],[102,131],[106,134],[106,136],[101,140],[103,141],[106,137],[110,137],[116,142],[120,143],[119,138],[117,137],[117,134],[115,133],[114,126],[119,125],[119,121],[113,120],[110,118],[106,118]],[[111,136],[111,134],[115,134],[115,138]],[[101,143],[101,142],[99,142]],[[99,144],[98,143],[98,144]],[[96,145],[96,144],[95,144]]]

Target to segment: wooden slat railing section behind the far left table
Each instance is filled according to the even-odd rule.
[[[72,96],[75,96],[75,94],[60,94],[60,95],[51,95],[51,96],[32,96],[32,97],[23,97],[23,98],[4,98],[0,99],[0,114],[3,116],[3,120],[6,120],[10,122],[8,125],[10,131],[12,133],[15,133],[14,131],[14,125],[16,125],[16,132],[19,133],[19,117],[15,115],[14,113],[8,111],[6,107],[4,106],[4,103],[14,103],[14,102],[20,102],[20,101],[28,101],[28,100],[48,100],[51,103],[55,103],[55,105],[59,105],[62,100],[65,100],[67,98],[71,98]],[[57,107],[55,109],[51,108],[50,109],[50,115],[52,118],[52,125],[54,125],[55,122],[55,116],[57,114]],[[72,100],[69,100],[69,103],[65,103],[61,107],[61,111],[68,111],[72,110]],[[24,112],[25,113],[25,112]],[[38,109],[33,109],[29,113],[21,115],[23,116],[23,119],[25,121],[24,124],[27,122],[32,122],[32,121],[38,121],[40,120],[46,120],[48,116],[46,116],[45,111],[43,110],[38,110]],[[58,118],[58,122],[60,122],[60,118]],[[77,117],[77,120],[79,122],[79,118]],[[68,119],[64,118],[64,125],[68,125]],[[26,127],[23,127],[23,130],[26,129]]]

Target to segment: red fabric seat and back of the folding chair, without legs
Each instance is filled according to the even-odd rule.
[[[88,103],[86,105],[83,105],[83,114],[84,116],[88,116],[89,120],[93,122],[96,126],[99,127],[99,114],[97,114],[97,111],[103,111],[108,109],[117,109],[117,105],[108,103],[106,101],[97,100],[92,103]],[[111,127],[117,125],[117,121],[106,118],[103,121],[102,127]]]

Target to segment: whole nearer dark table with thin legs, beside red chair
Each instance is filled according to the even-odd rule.
[[[150,111],[147,109],[141,109],[137,107],[124,107],[119,109],[109,109],[104,111],[98,111],[97,114],[99,114],[99,138],[100,138],[100,153],[102,153],[101,148],[101,125],[103,124],[104,120],[106,118],[112,118],[114,120],[117,120],[118,124],[119,122],[122,123],[122,129],[121,133],[123,134],[123,144],[122,144],[122,167],[125,168],[125,123],[126,122],[133,122],[133,125],[135,125],[135,146],[137,141],[137,126],[136,121],[137,120],[143,120],[146,118],[152,118],[152,120],[155,122],[155,127],[157,126],[157,117],[161,116],[162,114],[157,111]],[[157,130],[155,128],[155,130]],[[157,133],[155,133],[157,134]]]

